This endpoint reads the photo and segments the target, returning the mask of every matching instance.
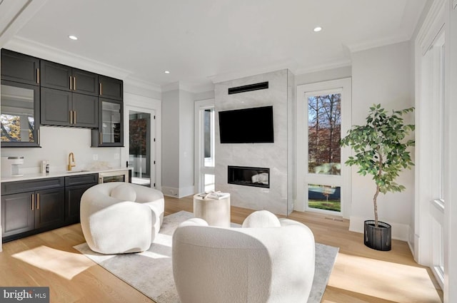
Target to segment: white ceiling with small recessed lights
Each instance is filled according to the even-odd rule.
[[[18,1],[0,0],[1,14]],[[39,45],[157,86],[198,86],[279,68],[348,66],[353,51],[410,39],[426,1],[21,0],[34,13],[24,9],[5,45]]]

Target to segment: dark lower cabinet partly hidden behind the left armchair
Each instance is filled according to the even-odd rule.
[[[65,177],[65,224],[79,222],[79,205],[86,190],[98,184],[98,174]]]

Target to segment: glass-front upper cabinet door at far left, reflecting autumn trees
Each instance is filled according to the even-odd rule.
[[[39,86],[1,81],[1,147],[39,147]]]

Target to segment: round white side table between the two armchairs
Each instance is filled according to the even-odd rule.
[[[230,195],[221,199],[194,195],[194,216],[211,226],[230,227]]]

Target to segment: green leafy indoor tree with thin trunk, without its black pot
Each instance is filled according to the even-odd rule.
[[[411,169],[414,163],[408,147],[414,146],[414,140],[408,139],[413,124],[403,123],[403,114],[413,112],[414,108],[392,111],[390,115],[381,108],[381,104],[370,107],[365,125],[353,125],[341,146],[350,146],[355,155],[345,164],[357,165],[359,175],[372,175],[376,184],[373,196],[375,226],[378,227],[379,192],[401,192],[406,188],[395,182],[403,169]]]

